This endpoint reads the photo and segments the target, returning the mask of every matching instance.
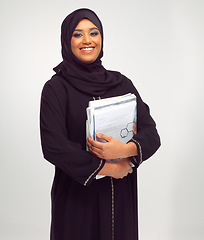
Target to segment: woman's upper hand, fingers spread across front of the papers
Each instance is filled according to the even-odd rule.
[[[106,142],[94,141],[88,137],[87,146],[93,155],[106,160],[127,157],[127,144],[101,133],[96,133],[96,137]]]

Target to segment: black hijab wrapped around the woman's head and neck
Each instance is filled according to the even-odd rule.
[[[82,19],[90,20],[100,31],[102,46],[98,58],[90,64],[81,62],[71,50],[73,31]],[[61,27],[61,44],[63,61],[54,68],[74,88],[91,96],[102,96],[111,88],[120,84],[122,75],[108,71],[101,64],[103,56],[103,27],[98,16],[89,9],[78,9],[69,14]]]

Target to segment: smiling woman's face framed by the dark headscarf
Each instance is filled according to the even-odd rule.
[[[101,51],[101,34],[88,19],[82,19],[76,26],[72,38],[73,54],[83,63],[94,62]]]

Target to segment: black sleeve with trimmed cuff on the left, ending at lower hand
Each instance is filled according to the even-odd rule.
[[[66,101],[63,88],[49,81],[41,96],[40,131],[44,158],[83,185],[89,185],[102,169],[104,160],[94,157],[71,141],[66,129]],[[80,134],[80,132],[76,132]]]

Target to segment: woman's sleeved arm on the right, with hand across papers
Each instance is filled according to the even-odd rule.
[[[117,139],[103,134],[97,137],[106,141],[101,143],[91,138],[87,139],[90,152],[95,156],[104,159],[127,158],[138,167],[144,160],[151,157],[160,146],[160,138],[156,130],[156,124],[152,119],[149,107],[145,104],[132,82],[126,82],[127,91],[137,96],[137,133],[134,132],[133,138],[124,144]]]

